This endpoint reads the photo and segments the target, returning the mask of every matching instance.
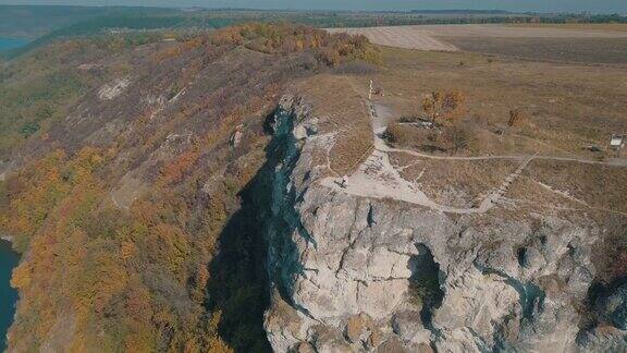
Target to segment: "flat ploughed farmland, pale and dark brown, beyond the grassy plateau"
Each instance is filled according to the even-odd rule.
[[[627,64],[627,25],[423,25],[328,29],[403,49],[464,50],[531,60]]]

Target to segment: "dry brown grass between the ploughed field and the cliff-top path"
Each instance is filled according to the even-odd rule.
[[[393,48],[384,48],[383,56],[385,69],[376,82],[385,94],[382,102],[398,118],[423,114],[420,100],[433,90],[459,90],[467,97],[462,120],[477,126],[472,154],[594,158],[582,147],[605,146],[612,133],[625,130],[626,69]],[[367,87],[367,77],[356,80]],[[525,109],[529,119],[524,126],[506,129],[515,108]]]

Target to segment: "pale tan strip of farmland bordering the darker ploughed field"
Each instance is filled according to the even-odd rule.
[[[361,34],[388,47],[455,51],[446,37],[469,38],[627,38],[627,32],[604,28],[517,27],[507,25],[421,25],[367,28],[330,28],[330,33]]]

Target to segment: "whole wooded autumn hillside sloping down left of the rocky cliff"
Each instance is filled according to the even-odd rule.
[[[291,25],[161,39],[58,42],[2,69],[0,232],[24,254],[11,350],[268,350],[241,209],[265,121],[294,80],[380,53]]]

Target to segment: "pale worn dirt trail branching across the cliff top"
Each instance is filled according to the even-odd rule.
[[[374,148],[372,154],[357,168],[357,170],[346,175],[347,182],[342,185],[342,178],[325,178],[320,183],[327,187],[340,193],[349,195],[371,197],[371,198],[392,198],[395,200],[406,202],[423,207],[431,208],[441,212],[469,215],[484,214],[496,206],[507,193],[512,184],[522,174],[525,169],[533,159],[546,159],[557,161],[574,161],[590,165],[607,165],[627,167],[627,160],[616,159],[607,162],[594,161],[578,158],[561,157],[542,157],[538,154],[532,156],[479,156],[479,157],[448,157],[432,156],[420,154],[408,149],[392,148],[385,144],[382,134],[388,127],[389,120],[392,118],[391,111],[381,105],[367,101],[368,111],[372,122],[372,135],[374,138]],[[502,184],[492,190],[485,197],[479,199],[476,207],[456,208],[446,205],[440,205],[430,199],[415,182],[409,182],[401,176],[398,170],[390,161],[390,153],[403,153],[420,158],[439,159],[439,160],[495,160],[511,159],[519,160],[520,166],[509,174]]]

